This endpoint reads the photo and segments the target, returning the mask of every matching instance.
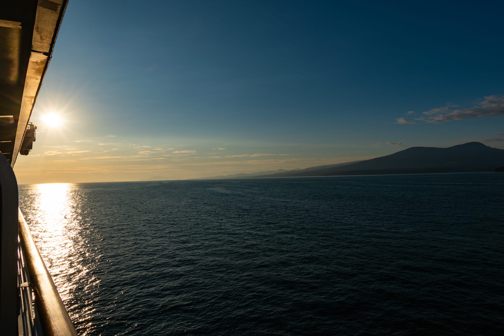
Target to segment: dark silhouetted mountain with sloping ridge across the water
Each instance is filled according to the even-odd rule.
[[[448,148],[411,147],[356,163],[348,162],[321,169],[311,167],[300,171],[260,175],[256,178],[493,172],[503,165],[504,149],[488,147],[480,142],[468,142]]]

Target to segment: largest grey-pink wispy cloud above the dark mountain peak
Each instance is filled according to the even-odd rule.
[[[415,120],[427,123],[443,123],[469,118],[504,116],[504,94],[486,96],[480,102],[473,104],[472,107],[460,109],[455,109],[458,107],[457,105],[433,108],[423,113],[425,117],[415,118]]]

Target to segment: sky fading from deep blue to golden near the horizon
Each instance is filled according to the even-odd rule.
[[[504,140],[503,9],[70,1],[16,174],[183,179]],[[50,111],[64,127],[44,126]]]

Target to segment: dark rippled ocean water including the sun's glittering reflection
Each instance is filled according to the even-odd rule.
[[[20,186],[81,335],[504,334],[504,174]]]

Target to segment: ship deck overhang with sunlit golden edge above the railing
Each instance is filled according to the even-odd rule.
[[[0,5],[0,152],[12,167],[68,0],[18,0]]]

